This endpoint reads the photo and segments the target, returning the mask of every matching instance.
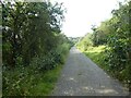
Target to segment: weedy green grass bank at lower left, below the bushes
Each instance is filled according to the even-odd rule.
[[[62,54],[62,63],[50,70],[36,70],[36,64],[19,66],[13,70],[3,68],[3,96],[49,96],[60,75],[68,52]]]

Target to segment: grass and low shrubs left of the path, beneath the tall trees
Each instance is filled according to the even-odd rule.
[[[3,68],[2,95],[49,96],[70,49],[69,45],[61,45],[60,48],[49,56],[34,58],[27,66],[19,63],[15,69]]]

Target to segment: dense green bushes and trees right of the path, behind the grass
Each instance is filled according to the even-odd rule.
[[[119,9],[111,13],[110,20],[92,28],[91,39],[95,47],[106,46],[105,66],[131,89],[131,1],[119,3]],[[87,48],[87,45],[85,47]]]

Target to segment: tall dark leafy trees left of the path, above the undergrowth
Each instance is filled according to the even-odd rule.
[[[57,48],[56,35],[63,20],[61,4],[3,1],[2,9],[4,65],[15,66],[17,57],[27,65],[33,58]]]

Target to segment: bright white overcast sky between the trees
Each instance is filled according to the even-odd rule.
[[[111,17],[111,11],[118,8],[118,1],[124,0],[53,0],[63,2],[67,13],[62,33],[68,37],[82,37],[92,32],[92,25]]]

